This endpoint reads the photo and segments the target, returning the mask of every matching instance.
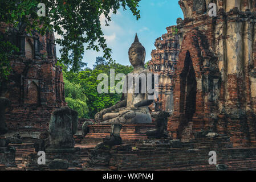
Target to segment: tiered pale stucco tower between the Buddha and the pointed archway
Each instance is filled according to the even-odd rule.
[[[159,74],[159,98],[152,105],[152,110],[173,111],[173,81],[174,65],[178,61],[180,43],[178,42],[177,27],[166,28],[167,34],[157,38],[156,49],[151,52],[152,60],[148,69]]]

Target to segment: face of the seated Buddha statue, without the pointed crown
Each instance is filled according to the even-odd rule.
[[[133,67],[137,67],[138,65],[143,65],[145,59],[145,52],[140,49],[132,48],[129,51],[129,61],[133,65]]]

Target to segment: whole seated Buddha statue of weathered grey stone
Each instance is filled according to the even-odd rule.
[[[137,34],[132,46],[129,48],[129,61],[134,67],[133,74],[133,88],[132,92],[129,92],[129,77],[126,77],[126,88],[127,92],[123,94],[122,101],[118,102],[116,105],[109,107],[107,109],[101,110],[99,113],[95,114],[95,121],[100,123],[151,123],[152,118],[149,114],[148,106],[152,104],[153,99],[149,99],[148,90],[146,92],[141,92],[145,89],[145,82],[147,83],[148,74],[153,76],[153,73],[144,68],[145,61],[145,48],[139,42]],[[139,78],[139,85],[136,84],[135,75],[145,75],[144,83],[143,79]],[[152,77],[151,77],[152,78]],[[130,78],[131,79],[131,78]],[[154,85],[154,80],[152,79],[152,85]],[[151,88],[154,86],[151,85]],[[139,87],[139,93],[135,93],[135,88]],[[142,88],[144,87],[144,88]]]

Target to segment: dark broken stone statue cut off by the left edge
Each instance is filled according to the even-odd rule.
[[[5,97],[0,97],[0,135],[6,134],[8,129],[5,123],[5,108],[10,105],[10,101]]]

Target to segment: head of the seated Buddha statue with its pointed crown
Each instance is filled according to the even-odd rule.
[[[134,42],[132,43],[132,46],[129,48],[128,54],[129,61],[133,65],[133,67],[137,67],[139,65],[144,67],[146,51],[139,42],[137,34],[135,36]]]

